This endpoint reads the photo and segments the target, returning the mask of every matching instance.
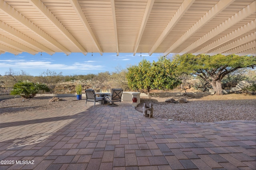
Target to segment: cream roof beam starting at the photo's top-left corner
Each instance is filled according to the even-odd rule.
[[[56,46],[58,49],[60,49],[67,55],[69,55],[71,53],[68,49],[66,49],[64,46],[62,46],[60,43],[58,43],[56,40],[54,40],[52,37],[50,37],[48,34],[46,34],[40,28],[38,28],[34,23],[30,22],[30,20],[28,20],[22,14],[17,12],[14,8],[12,8],[10,5],[8,5],[3,0],[0,0],[0,10],[2,10],[2,12],[6,13],[8,16],[10,16],[13,20],[16,20],[18,23],[26,26],[32,32],[38,34],[38,36],[42,37],[44,40],[46,40],[49,43],[51,43],[52,45]]]

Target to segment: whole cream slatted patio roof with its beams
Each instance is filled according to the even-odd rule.
[[[255,0],[0,0],[0,53],[256,55]]]

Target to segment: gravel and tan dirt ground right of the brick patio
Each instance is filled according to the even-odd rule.
[[[166,103],[166,99],[184,97],[188,103]],[[173,121],[218,122],[228,120],[256,121],[256,96],[228,94],[223,96],[173,96],[140,99],[137,111],[142,112],[143,103],[153,104],[153,116]]]

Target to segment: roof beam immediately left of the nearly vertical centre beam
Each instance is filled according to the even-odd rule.
[[[86,17],[84,16],[84,13],[82,12],[82,9],[78,3],[77,0],[69,0],[70,4],[73,6],[76,14],[78,15],[78,17],[80,18],[80,21],[82,22],[82,24],[84,25],[84,28],[86,29],[86,31],[88,32],[89,36],[91,37],[92,41],[94,42],[94,45],[96,46],[96,48],[98,49],[98,51],[100,52],[100,55],[103,54],[103,51],[100,47],[100,44],[98,43],[98,40],[96,39],[94,33],[92,32],[92,29],[90,28],[90,25],[86,19]]]

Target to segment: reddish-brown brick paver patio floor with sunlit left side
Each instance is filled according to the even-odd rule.
[[[256,169],[256,121],[167,121],[131,102],[92,104],[1,115],[0,170]]]

